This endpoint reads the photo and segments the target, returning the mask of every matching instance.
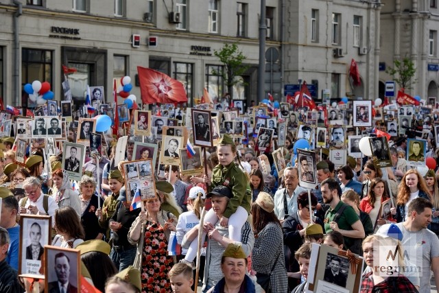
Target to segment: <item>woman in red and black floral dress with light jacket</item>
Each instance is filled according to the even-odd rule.
[[[172,292],[167,273],[174,266],[167,245],[171,231],[176,231],[177,218],[161,211],[158,197],[145,202],[128,233],[128,242],[137,245],[134,267],[141,272],[142,292]]]

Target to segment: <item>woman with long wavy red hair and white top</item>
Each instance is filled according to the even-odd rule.
[[[416,169],[405,172],[399,185],[398,197],[396,198],[397,207],[392,207],[393,218],[396,222],[404,222],[407,218],[407,211],[410,202],[415,198],[425,198],[431,201],[427,184]]]

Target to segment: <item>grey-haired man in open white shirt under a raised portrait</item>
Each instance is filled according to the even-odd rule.
[[[294,215],[297,212],[297,197],[305,188],[299,186],[299,174],[298,170],[293,167],[287,167],[283,172],[283,178],[285,180],[285,188],[278,189],[274,194],[274,214],[283,222],[288,218],[288,215]],[[285,202],[287,200],[287,215],[285,214]]]

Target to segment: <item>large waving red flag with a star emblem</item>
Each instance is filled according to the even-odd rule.
[[[137,67],[143,104],[176,104],[187,102],[183,84],[165,73]]]

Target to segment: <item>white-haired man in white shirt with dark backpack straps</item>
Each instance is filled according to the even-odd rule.
[[[25,197],[19,202],[20,213],[32,215],[50,215],[54,217],[58,204],[54,198],[43,194],[40,180],[36,177],[29,177],[23,181]],[[52,220],[52,224],[54,221]]]

